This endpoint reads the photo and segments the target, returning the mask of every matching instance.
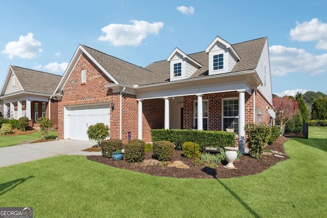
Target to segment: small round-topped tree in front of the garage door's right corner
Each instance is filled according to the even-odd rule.
[[[88,127],[86,134],[91,141],[96,141],[98,146],[101,147],[101,141],[109,137],[110,128],[103,123],[97,123]]]

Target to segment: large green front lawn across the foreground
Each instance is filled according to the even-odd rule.
[[[290,159],[241,178],[153,177],[83,156],[3,167],[0,205],[34,217],[325,217],[327,127],[309,131],[284,144]]]

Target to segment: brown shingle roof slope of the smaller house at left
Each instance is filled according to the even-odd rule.
[[[24,91],[52,94],[57,87],[61,76],[48,72],[10,66]]]

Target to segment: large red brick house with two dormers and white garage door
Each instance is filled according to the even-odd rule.
[[[245,123],[271,122],[268,38],[216,37],[203,49],[176,48],[142,68],[79,45],[54,91],[59,138],[88,140],[88,126],[102,122],[124,142],[151,141],[151,129],[234,128],[242,146]]]

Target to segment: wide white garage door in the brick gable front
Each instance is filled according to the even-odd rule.
[[[87,128],[96,123],[110,127],[109,104],[64,107],[64,138],[88,141]]]

